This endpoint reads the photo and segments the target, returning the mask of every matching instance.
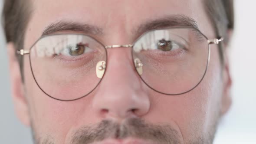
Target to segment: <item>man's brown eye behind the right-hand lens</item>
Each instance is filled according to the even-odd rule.
[[[175,49],[178,49],[178,48],[180,48],[180,47],[171,40],[167,41],[165,39],[161,39],[157,43],[157,49],[162,50],[164,52],[175,50]]]

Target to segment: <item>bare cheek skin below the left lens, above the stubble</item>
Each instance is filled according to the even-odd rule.
[[[63,137],[66,137],[72,127],[93,123],[95,119],[90,111],[91,97],[69,102],[50,98],[39,89],[33,79],[29,57],[24,59],[24,74],[30,118],[37,135],[44,137],[51,134],[56,139],[64,140]]]

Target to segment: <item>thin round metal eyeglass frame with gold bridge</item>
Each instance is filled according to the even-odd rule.
[[[210,63],[210,54],[211,54],[211,44],[219,44],[220,42],[223,41],[223,38],[222,37],[218,37],[218,38],[215,38],[215,39],[208,39],[207,36],[205,36],[199,29],[195,29],[194,27],[191,27],[191,26],[172,26],[172,27],[165,27],[165,28],[160,28],[160,29],[152,29],[152,30],[149,30],[149,31],[146,31],[145,33],[142,33],[141,36],[139,36],[132,44],[128,44],[128,45],[112,45],[112,46],[104,46],[100,41],[98,41],[97,39],[95,39],[93,36],[89,36],[89,35],[86,35],[86,34],[78,34],[78,33],[69,33],[68,35],[81,35],[81,36],[87,36],[87,37],[90,37],[91,39],[95,40],[97,43],[99,43],[103,49],[105,49],[105,56],[106,56],[106,67],[105,67],[105,72],[107,71],[108,69],[108,51],[107,49],[112,49],[112,48],[121,48],[121,47],[124,47],[124,48],[131,48],[131,56],[132,56],[132,59],[134,59],[134,55],[133,55],[133,48],[135,46],[135,43],[138,42],[139,39],[141,39],[142,36],[144,36],[146,33],[149,33],[151,31],[154,31],[154,30],[161,30],[161,29],[186,29],[186,28],[190,28],[190,29],[194,29],[194,30],[197,30],[197,32],[199,32],[201,34],[201,36],[203,36],[206,40],[207,40],[207,43],[208,43],[208,59],[207,59],[207,65],[206,65],[206,68],[205,68],[205,71],[203,73],[203,76],[202,78],[200,79],[200,81],[197,83],[197,85],[195,85],[194,87],[190,88],[189,90],[187,90],[186,92],[182,92],[182,93],[177,93],[177,94],[167,94],[167,93],[164,93],[164,92],[160,92],[158,90],[156,90],[155,88],[152,88],[150,85],[148,85],[147,82],[144,81],[144,79],[142,79],[141,75],[138,74],[138,71],[136,70],[136,66],[135,66],[135,62],[133,62],[133,68],[135,69],[136,73],[139,75],[139,77],[141,78],[141,80],[144,82],[144,84],[146,84],[149,88],[151,88],[153,91],[155,92],[158,92],[160,94],[163,94],[163,95],[183,95],[187,92],[190,92],[192,91],[194,88],[196,88],[203,80],[203,78],[205,77],[206,75],[206,72],[207,72],[207,69],[209,67],[209,63]],[[45,92],[43,90],[43,88],[40,87],[40,85],[38,84],[38,82],[36,81],[36,78],[35,78],[35,75],[33,73],[33,68],[32,68],[32,64],[31,64],[31,55],[30,55],[30,50],[33,48],[33,46],[36,45],[36,43],[43,39],[44,37],[47,37],[47,36],[56,36],[56,35],[65,35],[65,34],[52,34],[52,35],[46,35],[46,36],[42,36],[40,37],[38,40],[36,40],[35,43],[33,43],[33,45],[30,47],[30,49],[20,49],[20,50],[17,50],[17,54],[20,55],[20,56],[25,56],[25,55],[29,55],[29,60],[30,60],[30,69],[31,69],[31,72],[32,72],[32,75],[33,75],[33,79],[35,80],[36,82],[36,85],[39,87],[39,89],[45,93],[47,96],[49,96],[50,98],[53,98],[53,99],[56,99],[56,100],[59,100],[59,101],[75,101],[75,100],[78,100],[78,99],[81,99],[81,98],[84,98],[85,96],[91,94],[97,87],[98,85],[100,84],[100,82],[102,81],[102,79],[104,78],[105,76],[105,72],[103,73],[102,75],[102,78],[99,80],[99,82],[97,83],[97,85],[95,86],[95,88],[93,88],[90,92],[88,92],[86,95],[83,95],[79,98],[74,98],[74,99],[70,99],[70,100],[63,100],[63,99],[59,99],[59,98],[55,98],[51,95],[49,95],[47,92]]]

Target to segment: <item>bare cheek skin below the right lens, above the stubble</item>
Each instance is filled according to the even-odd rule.
[[[203,81],[184,95],[151,93],[151,109],[145,119],[152,123],[177,124],[184,137],[209,132],[218,118],[221,88],[221,66],[217,47]]]

